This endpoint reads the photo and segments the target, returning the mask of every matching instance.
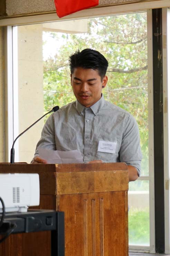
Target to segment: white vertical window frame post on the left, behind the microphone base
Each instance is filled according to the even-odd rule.
[[[5,161],[10,162],[10,149],[18,136],[18,50],[17,27],[7,26],[4,29],[4,96],[5,96]],[[13,65],[13,63],[16,65]],[[15,92],[15,94],[14,94]],[[15,96],[14,96],[15,95]],[[15,125],[14,125],[15,120]],[[18,120],[18,122],[17,122]],[[16,161],[18,161],[18,142],[15,144]]]

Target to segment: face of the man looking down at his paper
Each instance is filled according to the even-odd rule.
[[[101,80],[97,70],[78,67],[71,74],[71,84],[76,99],[88,108],[100,100],[107,76]]]

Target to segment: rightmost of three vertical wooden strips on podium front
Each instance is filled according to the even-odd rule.
[[[104,256],[104,214],[103,214],[103,198],[100,198],[100,256]]]

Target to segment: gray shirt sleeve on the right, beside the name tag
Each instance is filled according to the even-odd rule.
[[[131,115],[124,122],[122,143],[120,148],[120,162],[134,166],[138,175],[141,174],[142,153],[140,147],[139,128],[136,120]]]

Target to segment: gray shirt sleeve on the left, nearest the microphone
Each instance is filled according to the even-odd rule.
[[[54,114],[47,119],[43,130],[41,132],[41,138],[36,146],[35,156],[38,156],[38,148],[43,147],[49,150],[56,150],[55,143],[55,128],[54,128]]]

